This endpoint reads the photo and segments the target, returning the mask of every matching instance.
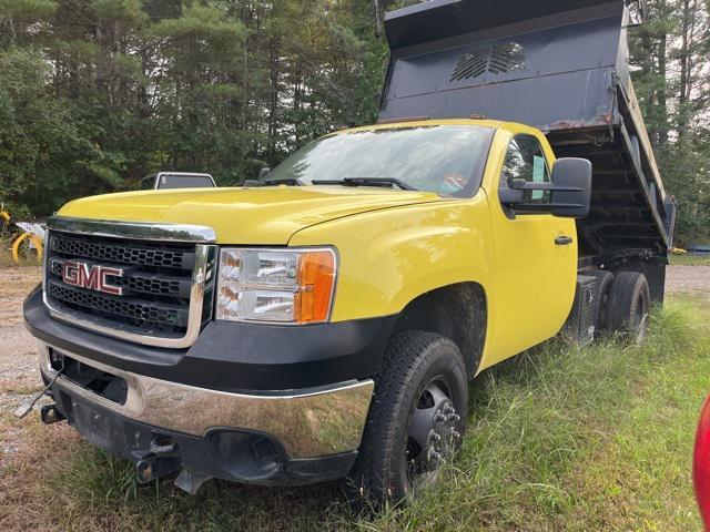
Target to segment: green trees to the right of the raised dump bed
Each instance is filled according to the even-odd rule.
[[[631,32],[633,80],[667,192],[677,244],[710,242],[710,2],[649,0]]]

